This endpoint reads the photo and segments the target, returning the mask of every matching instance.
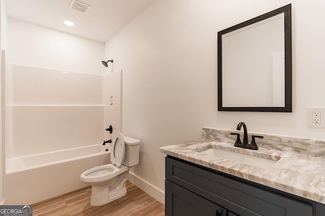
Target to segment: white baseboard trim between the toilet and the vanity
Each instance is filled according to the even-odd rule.
[[[151,185],[150,183],[146,182],[145,180],[141,179],[140,177],[136,176],[132,172],[128,172],[128,181],[132,182],[138,188],[161,202],[165,205],[165,192],[161,191],[160,189],[156,188],[155,186]]]

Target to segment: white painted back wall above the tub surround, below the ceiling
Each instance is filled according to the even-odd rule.
[[[103,75],[104,44],[8,18],[9,64]]]

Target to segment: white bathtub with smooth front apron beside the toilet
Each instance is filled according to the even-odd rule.
[[[7,158],[5,204],[33,204],[86,187],[80,175],[89,168],[110,163],[106,148],[97,144]]]

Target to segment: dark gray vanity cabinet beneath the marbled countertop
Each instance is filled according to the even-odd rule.
[[[166,157],[165,214],[325,215],[325,205],[172,156]]]

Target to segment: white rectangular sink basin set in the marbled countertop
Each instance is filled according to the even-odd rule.
[[[260,168],[271,168],[276,162],[278,162],[277,160],[271,160],[263,157],[256,157],[253,155],[247,155],[217,148],[208,148],[199,152]]]

